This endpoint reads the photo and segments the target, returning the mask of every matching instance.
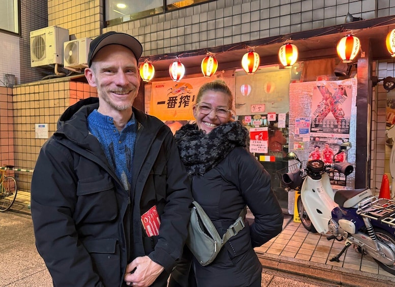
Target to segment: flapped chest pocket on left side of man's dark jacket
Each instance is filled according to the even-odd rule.
[[[108,175],[83,178],[77,184],[77,223],[108,222],[116,218],[118,206],[115,186]]]

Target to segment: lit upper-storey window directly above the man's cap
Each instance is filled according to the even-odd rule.
[[[203,2],[209,2],[209,0],[151,0],[133,2],[128,0],[105,0],[106,24],[107,26],[112,26]]]

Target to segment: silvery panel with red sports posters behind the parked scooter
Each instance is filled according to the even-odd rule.
[[[335,189],[352,188],[355,182],[354,173],[346,177],[330,164],[355,163],[356,88],[356,79],[290,84],[290,147],[301,160],[327,164],[326,173]],[[303,127],[304,118],[310,118],[310,131]],[[335,155],[348,141],[352,149]]]

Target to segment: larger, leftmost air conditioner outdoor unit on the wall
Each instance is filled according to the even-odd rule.
[[[69,30],[57,26],[31,31],[31,67],[63,65],[63,43],[69,40]]]

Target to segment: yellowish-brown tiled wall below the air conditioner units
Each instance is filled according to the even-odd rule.
[[[34,169],[46,139],[36,138],[35,124],[48,125],[48,137],[56,131],[59,116],[70,105],[87,97],[96,97],[96,89],[70,78],[41,81],[13,89],[15,166]],[[3,132],[3,126],[2,126]],[[32,173],[16,172],[19,188],[30,190]]]

